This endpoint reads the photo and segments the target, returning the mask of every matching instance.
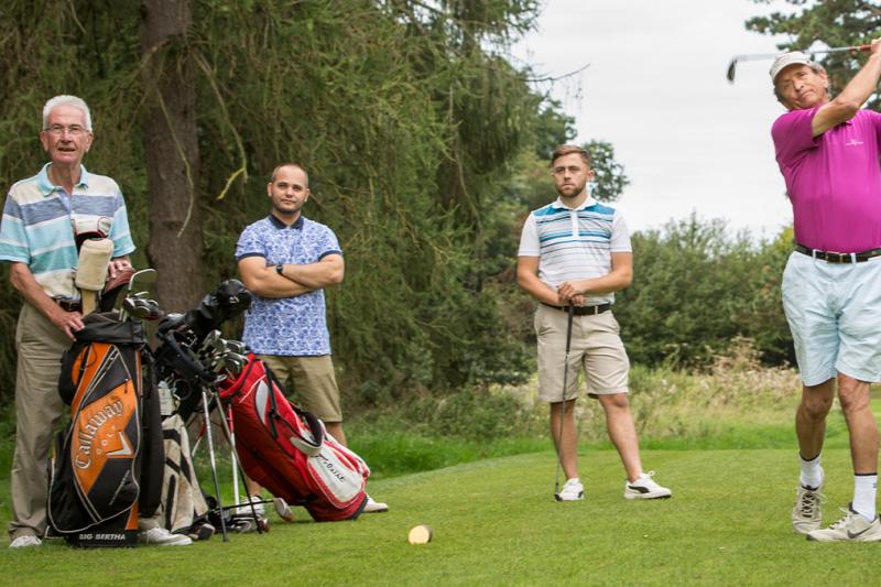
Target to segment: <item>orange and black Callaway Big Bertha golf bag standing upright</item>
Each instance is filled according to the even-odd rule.
[[[133,546],[164,469],[152,357],[137,320],[94,313],[62,359],[58,393],[70,423],[50,465],[48,523],[83,547]]]

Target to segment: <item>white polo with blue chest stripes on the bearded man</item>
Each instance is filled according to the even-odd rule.
[[[519,257],[539,257],[539,279],[555,290],[564,281],[601,278],[613,252],[630,252],[621,214],[591,197],[577,208],[556,202],[534,210],[523,225]],[[587,305],[613,303],[614,294],[591,295]]]

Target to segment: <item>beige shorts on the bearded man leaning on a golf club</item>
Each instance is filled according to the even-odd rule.
[[[559,402],[566,357],[568,314],[539,305],[535,334],[539,337],[539,399]],[[611,311],[594,316],[574,316],[569,360],[566,367],[566,399],[578,396],[578,376],[584,371],[590,396],[628,392],[630,359],[619,336]]]

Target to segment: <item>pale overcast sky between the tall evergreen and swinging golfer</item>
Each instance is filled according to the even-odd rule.
[[[733,55],[777,51],[743,26],[768,10],[749,0],[546,0],[539,29],[513,47],[545,75],[590,64],[553,95],[578,142],[614,146],[631,181],[618,202],[631,230],[692,211],[765,237],[792,221],[770,135],[784,111],[771,62],[739,63],[733,85],[725,76]]]

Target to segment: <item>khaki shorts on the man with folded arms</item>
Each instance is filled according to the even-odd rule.
[[[259,355],[272,369],[294,402],[328,423],[342,422],[339,389],[330,355],[320,357],[283,357]]]

